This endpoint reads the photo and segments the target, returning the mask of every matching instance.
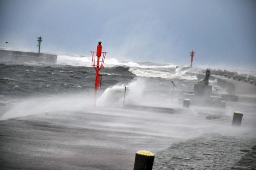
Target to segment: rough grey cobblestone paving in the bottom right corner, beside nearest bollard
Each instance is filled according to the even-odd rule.
[[[255,144],[256,140],[252,139],[241,141],[219,134],[204,135],[201,138],[174,143],[167,150],[158,153],[153,170],[230,170],[241,155],[250,151]],[[248,170],[256,169],[255,150],[254,157],[250,153],[251,151],[245,160],[240,160],[238,165],[234,166],[236,170],[245,170],[245,167],[249,167],[247,164],[251,159],[254,161],[254,168]]]

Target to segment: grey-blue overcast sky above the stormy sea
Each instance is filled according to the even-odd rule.
[[[255,0],[0,0],[0,47],[256,70]],[[9,44],[5,42],[8,41]]]

